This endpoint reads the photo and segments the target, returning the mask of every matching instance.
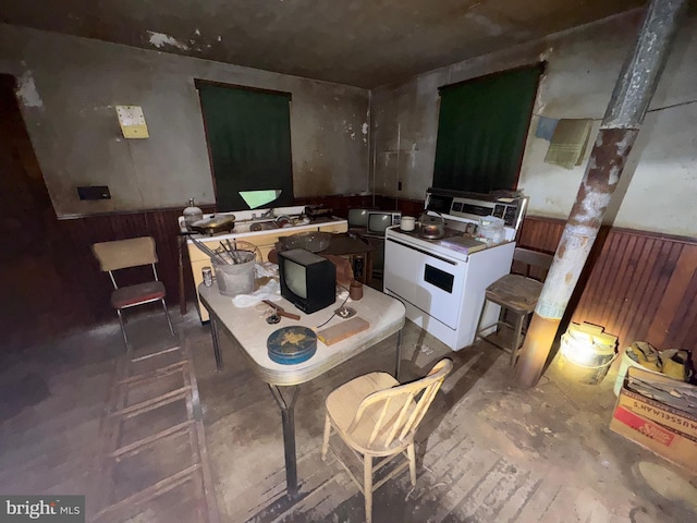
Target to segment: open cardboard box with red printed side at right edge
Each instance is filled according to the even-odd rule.
[[[629,390],[631,376],[650,384],[659,396],[661,391],[669,393],[676,382],[665,376],[631,367],[617,397],[610,429],[697,473],[697,413]]]

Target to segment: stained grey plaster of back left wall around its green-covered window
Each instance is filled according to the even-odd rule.
[[[59,217],[215,203],[194,78],[288,92],[295,196],[368,188],[367,90],[0,24],[0,73],[17,97]],[[114,106],[143,107],[125,139]],[[78,185],[111,199],[81,202]],[[230,209],[221,209],[230,210]]]

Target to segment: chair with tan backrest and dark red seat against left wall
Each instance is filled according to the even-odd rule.
[[[174,336],[172,321],[164,303],[164,284],[159,281],[157,276],[157,253],[155,252],[155,240],[151,236],[133,238],[130,240],[119,240],[114,242],[101,242],[93,245],[93,252],[99,262],[102,271],[109,272],[111,283],[113,283],[113,292],[111,293],[111,305],[117,309],[119,315],[119,324],[121,325],[121,333],[123,341],[129,349],[129,338],[123,326],[123,317],[121,311],[124,308],[144,305],[146,303],[162,302],[167,324],[170,332]],[[119,287],[113,276],[114,271],[129,267],[139,267],[143,265],[152,266],[152,281],[137,283],[134,285]]]

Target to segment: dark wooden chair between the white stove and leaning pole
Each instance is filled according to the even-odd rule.
[[[511,353],[511,366],[514,367],[521,352],[524,340],[524,329],[527,328],[530,314],[537,306],[537,300],[542,291],[542,281],[547,277],[547,271],[552,265],[554,257],[551,254],[539,253],[527,248],[516,247],[513,254],[513,268],[523,266],[524,275],[510,273],[491,283],[486,292],[481,304],[481,313],[477,323],[475,340],[481,338],[492,345]],[[531,278],[531,276],[536,278]],[[493,303],[501,307],[499,319],[491,325],[482,326],[488,303]],[[511,323],[508,318],[512,316]],[[504,326],[513,331],[511,345],[499,343],[492,333],[482,336],[492,328]]]

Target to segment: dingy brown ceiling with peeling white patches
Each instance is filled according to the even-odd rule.
[[[0,21],[360,87],[641,0],[0,0]]]

